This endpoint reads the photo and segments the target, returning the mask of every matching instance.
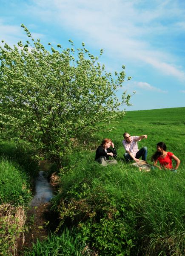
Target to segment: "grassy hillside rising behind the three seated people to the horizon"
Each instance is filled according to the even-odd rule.
[[[185,152],[185,108],[165,108],[155,110],[128,111],[125,117],[108,126],[111,131],[99,132],[99,136],[108,137],[115,141],[120,157],[122,147],[122,134],[130,135],[147,134],[148,139],[138,143],[139,148],[148,147],[148,160],[156,151],[156,144],[163,141],[167,151],[173,152],[184,162]],[[101,142],[100,142],[101,143]]]

